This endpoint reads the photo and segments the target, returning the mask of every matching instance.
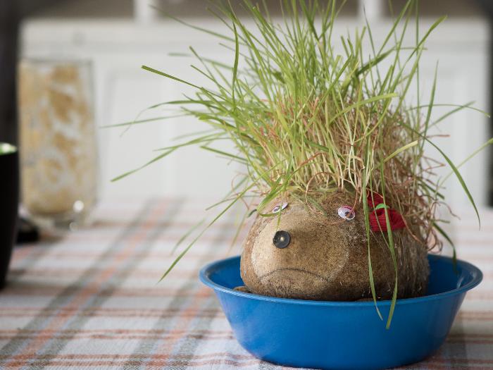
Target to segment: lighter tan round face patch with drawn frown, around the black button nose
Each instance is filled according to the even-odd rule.
[[[251,266],[263,287],[290,297],[304,297],[308,289],[310,295],[323,297],[330,289],[335,276],[347,267],[349,249],[333,242],[340,235],[324,227],[321,217],[308,217],[304,207],[291,206],[279,225],[272,217],[261,230],[251,250]],[[289,235],[287,247],[275,246],[278,230]]]

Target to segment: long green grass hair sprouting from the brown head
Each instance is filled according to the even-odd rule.
[[[211,129],[162,149],[144,166],[177,149],[198,145],[246,167],[244,178],[226,195],[225,209],[208,226],[240,199],[252,195],[261,199],[255,207],[258,214],[272,216],[266,205],[276,197],[299,197],[317,209],[320,195],[342,190],[354,197],[354,204],[362,204],[369,240],[366,197],[376,192],[383,196],[385,205],[392,204],[399,211],[406,225],[418,226],[423,238],[416,235],[417,240],[425,240],[430,248],[437,247],[437,234],[449,238],[435,218],[443,196],[440,183],[430,175],[423,149],[425,142],[442,154],[478,213],[456,166],[428,137],[436,81],[428,104],[420,105],[418,101],[417,107],[410,107],[406,100],[412,82],[418,82],[419,91],[416,77],[426,39],[444,17],[419,35],[418,3],[408,1],[395,16],[388,35],[377,44],[368,22],[354,35],[340,39],[333,36],[337,14],[344,5],[335,0],[281,1],[281,24],[270,17],[265,4],[256,5],[249,0],[242,4],[254,21],[254,30],[246,27],[230,6],[213,10],[227,25],[229,35],[191,26],[217,37],[231,51],[227,64],[202,58],[191,48],[199,61],[199,66],[193,68],[205,75],[213,88],[142,66],[151,73],[194,87],[193,97],[159,106],[177,106],[180,114],[193,116]],[[404,35],[414,22],[416,43],[409,47],[404,45]],[[366,40],[370,42],[368,49],[363,47]],[[342,54],[337,54],[335,44],[342,46]],[[382,68],[384,60],[387,65]],[[454,113],[470,108],[470,104],[451,108],[449,113]],[[449,113],[437,121],[447,118]],[[235,144],[237,152],[214,147],[214,142],[225,139]],[[251,212],[252,209],[246,210],[243,221]],[[386,218],[388,223],[387,214]],[[407,228],[409,233],[416,233],[416,228]],[[397,269],[392,231],[388,230],[387,246]],[[178,255],[163,278],[202,233]],[[368,260],[376,302],[369,253]],[[387,325],[397,299],[397,284],[396,273]]]

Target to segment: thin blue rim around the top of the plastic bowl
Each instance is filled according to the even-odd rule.
[[[453,261],[451,257],[446,257],[446,256],[439,256],[437,254],[428,254],[428,257],[430,258],[436,258],[436,259],[443,259],[443,260],[449,260]],[[222,264],[227,264],[228,262],[232,261],[233,259],[239,259],[239,256],[233,256],[233,257],[228,257],[225,259],[218,259],[216,261],[213,261],[209,264],[206,264],[200,272],[199,272],[199,279],[201,280],[202,283],[207,285],[210,288],[213,288],[213,290],[219,290],[220,292],[225,292],[230,295],[236,295],[238,297],[244,297],[249,300],[261,300],[261,301],[268,301],[268,302],[275,302],[275,303],[281,303],[281,304],[301,304],[301,305],[308,305],[308,306],[327,306],[327,307],[375,307],[375,302],[373,301],[368,301],[368,302],[339,302],[339,301],[315,301],[315,300],[297,300],[294,298],[279,298],[279,297],[269,297],[267,295],[256,295],[254,293],[246,293],[246,292],[240,292],[238,290],[234,290],[231,288],[226,288],[223,285],[219,285],[218,283],[214,283],[211,278],[208,277],[209,271],[211,269],[216,269],[217,266],[220,266]],[[482,281],[482,272],[478,267],[476,267],[473,264],[470,264],[469,262],[463,261],[461,259],[457,259],[457,265],[461,266],[462,269],[466,269],[470,271],[470,274],[473,276],[473,279],[461,286],[460,288],[455,288],[452,290],[447,290],[447,292],[441,292],[437,294],[432,294],[432,295],[425,295],[423,297],[415,297],[415,298],[403,298],[401,300],[397,300],[397,304],[417,304],[417,303],[423,303],[423,302],[428,302],[432,300],[441,300],[446,297],[451,297],[454,295],[461,294],[462,292],[467,292],[468,290],[471,290],[475,288],[479,283]],[[385,300],[385,301],[378,301],[376,302],[377,307],[387,307],[392,303],[391,300]]]

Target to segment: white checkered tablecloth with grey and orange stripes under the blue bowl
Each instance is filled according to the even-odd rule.
[[[185,199],[106,202],[91,227],[17,247],[0,292],[0,369],[282,369],[238,345],[197,278],[207,262],[239,253],[234,213],[157,284],[203,210]],[[485,280],[439,353],[408,369],[493,369],[493,211],[482,211],[480,232],[464,214],[450,229]]]

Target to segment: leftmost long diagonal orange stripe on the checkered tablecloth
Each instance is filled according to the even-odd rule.
[[[149,218],[153,219],[154,221],[157,221],[158,216],[161,214],[163,207],[166,208],[166,204],[163,204],[160,207],[156,207],[154,212],[151,213]],[[141,230],[140,228],[138,230]],[[104,271],[101,271],[99,273],[99,276],[96,276],[89,285],[82,289],[80,292],[73,297],[73,300],[68,304],[68,308],[73,309],[71,311],[71,314],[69,315],[63,315],[63,314],[56,314],[52,319],[47,328],[49,330],[56,330],[61,328],[73,315],[75,312],[77,312],[77,307],[81,307],[84,302],[87,302],[89,297],[92,297],[96,292],[98,292],[99,287],[101,286],[104,281],[108,280],[108,278],[118,269],[118,266],[125,261],[130,255],[132,254],[132,250],[135,249],[135,246],[139,244],[139,242],[142,242],[144,240],[146,235],[146,232],[140,231],[140,233],[136,233],[131,240],[129,240],[127,247],[125,247],[119,254],[116,254],[115,258],[113,259],[113,264],[109,264],[107,269],[104,269]],[[63,310],[61,310],[63,312]],[[44,337],[35,337],[32,338],[32,341],[28,343],[28,345],[20,352],[20,354],[30,354],[30,353],[36,353],[39,349],[43,347],[43,345],[50,340],[51,338],[44,338]],[[10,362],[8,363],[10,364]],[[20,362],[18,366],[10,366],[8,367],[13,367],[14,369],[18,369],[22,366],[25,366],[27,362]]]

